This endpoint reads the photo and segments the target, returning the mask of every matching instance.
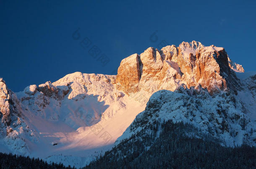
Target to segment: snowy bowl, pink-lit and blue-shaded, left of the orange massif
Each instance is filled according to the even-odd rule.
[[[23,136],[29,152],[24,149],[15,153],[82,167],[111,149],[136,115],[145,109],[150,97],[141,91],[146,98],[141,104],[136,97],[116,91],[115,84],[108,81],[112,77],[115,76],[76,72],[52,84],[47,82],[62,90],[70,84],[62,100],[34,92],[34,85],[16,93],[23,98],[24,121],[34,135]]]

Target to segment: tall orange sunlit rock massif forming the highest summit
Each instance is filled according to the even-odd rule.
[[[228,58],[224,48],[204,46],[196,41],[183,42],[179,47],[147,48],[140,55],[123,59],[116,82],[117,88],[125,93],[174,91],[181,85],[187,88],[200,85],[209,93],[228,89],[236,93],[240,84],[232,69],[244,71]]]

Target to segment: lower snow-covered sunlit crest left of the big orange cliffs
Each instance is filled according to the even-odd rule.
[[[18,96],[26,97],[23,93],[34,95],[37,92],[59,100],[64,99],[66,95],[68,99],[84,98],[86,95],[104,96],[104,93],[112,91],[113,84],[115,84],[113,75],[75,72],[53,83],[47,81],[39,86],[27,86],[23,92],[18,93]]]

